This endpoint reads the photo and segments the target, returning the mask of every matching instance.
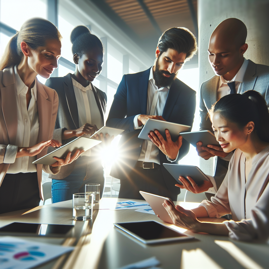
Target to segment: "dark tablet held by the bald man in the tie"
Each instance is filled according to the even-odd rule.
[[[196,147],[196,143],[201,141],[203,143],[202,146],[207,147],[207,145],[216,145],[220,146],[216,137],[210,131],[198,131],[198,132],[187,132],[180,133],[180,135],[187,140],[190,144]]]

